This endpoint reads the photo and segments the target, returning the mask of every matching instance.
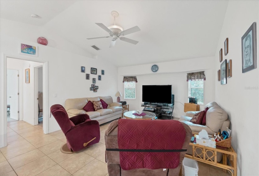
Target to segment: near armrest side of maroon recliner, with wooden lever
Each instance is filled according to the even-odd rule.
[[[87,146],[91,146],[100,141],[100,125],[97,120],[86,120],[85,122],[73,126],[65,133],[68,143],[73,151],[81,150],[84,143],[91,141]]]

